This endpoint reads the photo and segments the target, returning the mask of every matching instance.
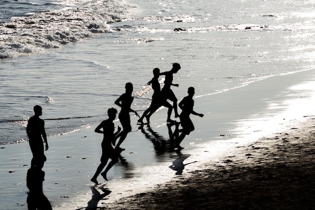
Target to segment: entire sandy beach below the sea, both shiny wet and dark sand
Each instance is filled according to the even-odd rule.
[[[312,209],[314,81],[305,71],[196,97],[205,116],[192,117],[196,130],[180,153],[166,110],[151,127],[132,117],[126,151],[97,186],[90,181],[101,155],[96,125],[48,138],[44,194],[53,209]],[[29,145],[1,148],[0,209],[27,209]]]

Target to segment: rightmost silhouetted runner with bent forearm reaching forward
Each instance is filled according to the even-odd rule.
[[[184,97],[183,100],[178,104],[178,106],[182,109],[180,114],[180,120],[182,125],[182,132],[176,141],[175,147],[178,149],[183,149],[180,144],[185,138],[186,135],[189,135],[191,131],[195,130],[194,124],[190,119],[190,114],[197,115],[199,117],[203,117],[203,114],[198,114],[193,110],[194,108],[194,100],[193,96],[195,95],[195,88],[188,88],[188,96]]]

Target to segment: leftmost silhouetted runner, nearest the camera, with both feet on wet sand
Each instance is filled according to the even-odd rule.
[[[105,180],[107,180],[107,172],[109,169],[111,169],[118,161],[118,154],[112,147],[112,144],[116,141],[121,130],[121,128],[118,126],[117,132],[114,133],[115,127],[113,121],[116,118],[117,109],[109,108],[107,113],[108,119],[102,121],[101,124],[95,128],[95,132],[103,133],[101,164],[98,166],[94,176],[91,179],[91,181],[93,181],[95,184],[99,184],[97,177],[105,168],[108,160],[111,159],[111,162],[108,164],[105,171],[101,173]]]

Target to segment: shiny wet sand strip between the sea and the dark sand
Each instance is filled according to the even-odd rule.
[[[103,184],[98,186],[90,181],[101,156],[102,136],[94,132],[94,126],[97,125],[49,138],[49,150],[45,152],[47,162],[43,168],[46,173],[44,194],[55,210],[88,209],[87,205],[111,205],[109,209],[116,209],[115,203],[123,205],[126,199],[129,199],[128,196],[135,196],[141,201],[142,198],[137,198],[138,195],[142,197],[146,195],[145,192],[153,190],[149,197],[155,197],[157,190],[154,191],[154,187],[161,187],[159,191],[163,192],[163,186],[177,187],[169,183],[179,183],[181,179],[188,177],[188,181],[185,182],[184,179],[181,184],[185,186],[189,184],[189,179],[192,179],[189,177],[201,177],[199,172],[203,170],[205,173],[220,172],[223,176],[224,172],[220,169],[228,165],[231,169],[225,168],[223,171],[231,170],[233,173],[232,169],[238,169],[242,161],[254,160],[253,155],[240,155],[237,151],[240,151],[241,147],[247,148],[247,145],[263,136],[270,136],[277,130],[282,132],[292,128],[294,123],[304,122],[303,116],[314,113],[311,107],[315,100],[312,88],[314,81],[313,71],[305,71],[295,75],[272,77],[211,97],[195,98],[194,109],[205,116],[192,117],[196,130],[184,139],[182,144],[187,149],[183,150],[182,154],[165,148],[159,150],[156,142],[139,130],[136,125],[137,118],[131,117],[133,131],[128,134],[122,145],[126,151],[121,154],[121,161],[109,171],[109,181],[105,182],[100,177],[99,181]],[[214,107],[217,110],[213,111]],[[165,109],[151,117],[153,132],[150,134],[160,136],[157,141],[160,145],[170,144],[165,117]],[[115,121],[116,126],[117,123],[118,121]],[[27,209],[26,172],[31,160],[29,145],[24,142],[4,147],[6,148],[1,149],[4,158],[0,168],[0,173],[3,174],[0,180],[0,185],[3,186],[0,197],[4,199],[0,209],[3,206],[7,210]],[[265,147],[255,145],[255,148]],[[225,159],[222,159],[224,157]],[[215,167],[217,170],[214,170]],[[10,171],[12,173],[9,173]],[[194,180],[196,183],[198,181],[203,180]],[[175,195],[170,195],[172,196]],[[188,198],[190,197],[185,199]]]

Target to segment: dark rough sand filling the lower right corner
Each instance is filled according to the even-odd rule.
[[[315,117],[102,209],[314,209]]]

